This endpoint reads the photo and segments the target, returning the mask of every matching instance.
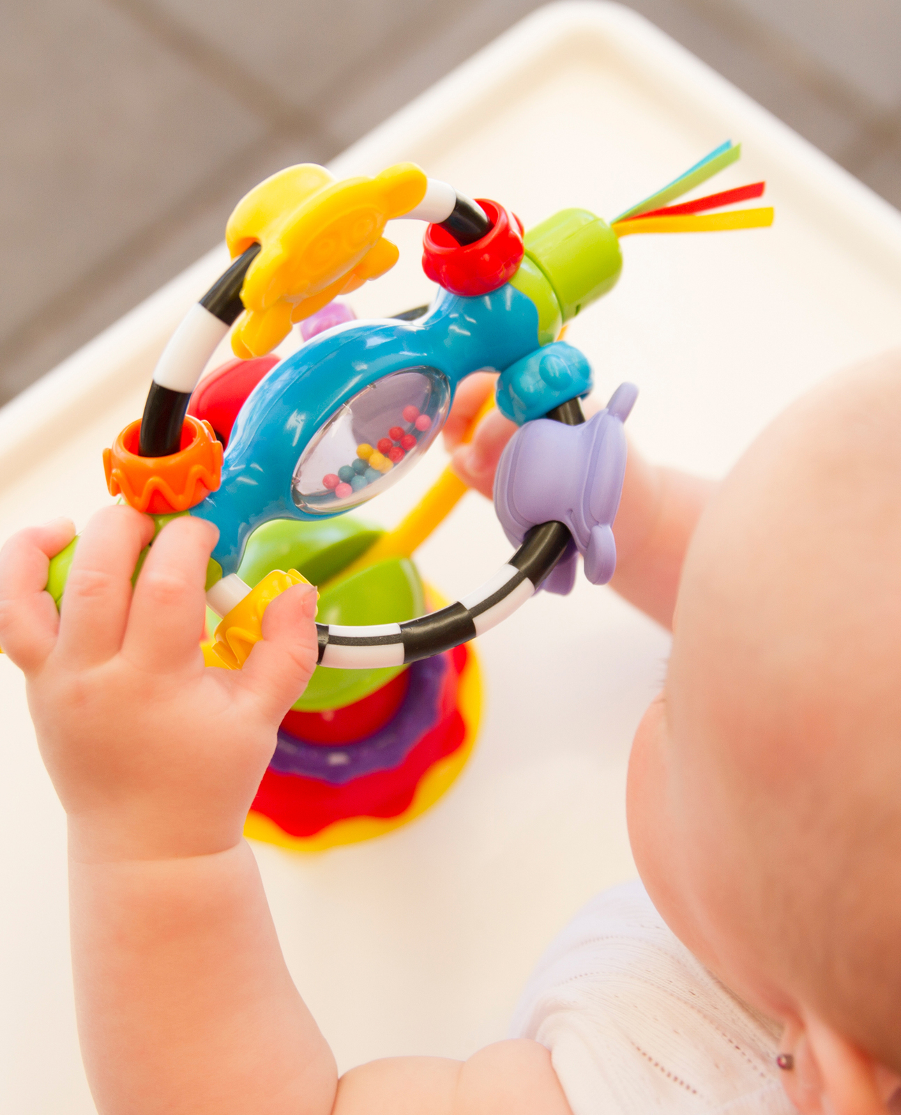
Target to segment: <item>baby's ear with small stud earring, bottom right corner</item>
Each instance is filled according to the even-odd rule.
[[[815,1012],[786,1025],[782,1049],[783,1086],[801,1115],[891,1115],[901,1076]]]

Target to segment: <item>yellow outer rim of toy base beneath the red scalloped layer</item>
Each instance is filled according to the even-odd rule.
[[[456,780],[472,754],[482,716],[482,671],[472,646],[467,648],[466,666],[459,676],[457,707],[459,708],[465,735],[463,743],[452,754],[438,759],[419,779],[409,806],[396,817],[346,817],[322,828],[314,836],[291,836],[274,821],[251,809],[244,822],[244,835],[249,840],[278,844],[294,852],[324,852],[340,844],[357,844],[364,840],[382,836],[400,825],[407,824],[435,804]]]

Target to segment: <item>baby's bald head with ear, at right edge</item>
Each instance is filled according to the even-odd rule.
[[[674,931],[785,1022],[795,1105],[884,1111],[901,1084],[898,356],[791,407],[705,511],[629,826]]]

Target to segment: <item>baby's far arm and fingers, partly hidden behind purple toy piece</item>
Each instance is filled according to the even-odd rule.
[[[468,420],[494,389],[496,378],[477,372],[465,379],[445,426],[454,469],[488,498],[497,462],[516,426],[498,410],[492,410],[469,445],[459,442]],[[714,487],[711,481],[653,465],[634,445],[629,445],[622,501],[613,523],[617,572],[610,583],[620,595],[665,627],[672,626],[685,553]]]

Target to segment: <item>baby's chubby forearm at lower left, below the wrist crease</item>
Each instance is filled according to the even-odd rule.
[[[243,841],[69,860],[81,1054],[106,1115],[326,1115],[331,1051],[282,959]]]

